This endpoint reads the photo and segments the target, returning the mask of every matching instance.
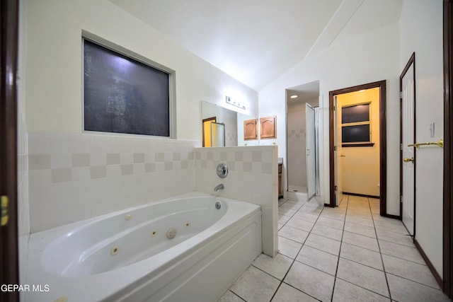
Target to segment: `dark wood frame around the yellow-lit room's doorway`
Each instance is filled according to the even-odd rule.
[[[387,175],[386,175],[386,166],[387,166],[387,131],[386,131],[386,81],[377,81],[372,83],[366,83],[358,86],[352,86],[348,88],[338,89],[336,91],[329,91],[328,93],[328,123],[329,123],[329,187],[330,187],[330,200],[328,204],[325,204],[327,207],[335,207],[335,137],[334,137],[334,102],[333,98],[335,95],[343,93],[351,93],[355,91],[360,91],[362,89],[377,88],[379,87],[379,204],[380,204],[380,214],[381,216],[388,216],[395,218],[394,215],[386,214],[387,209]]]

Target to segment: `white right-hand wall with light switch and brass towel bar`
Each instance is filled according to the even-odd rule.
[[[416,141],[443,139],[442,1],[404,1],[400,72],[415,52]],[[435,122],[435,137],[429,125]],[[415,239],[442,277],[443,150],[415,149]]]

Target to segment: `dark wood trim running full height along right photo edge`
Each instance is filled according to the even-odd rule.
[[[453,298],[453,1],[444,0],[443,290]]]

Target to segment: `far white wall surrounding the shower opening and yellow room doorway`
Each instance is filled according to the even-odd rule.
[[[285,89],[319,80],[321,198],[329,202],[328,92],[386,80],[387,103],[387,212],[399,215],[399,40],[398,23],[365,35],[333,42],[307,57],[259,92],[260,116],[277,115],[278,156],[286,163]]]

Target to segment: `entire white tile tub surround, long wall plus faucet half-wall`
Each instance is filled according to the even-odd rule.
[[[193,192],[263,211],[263,252],[277,253],[277,146],[195,148],[200,141],[28,133],[30,231]],[[219,178],[218,163],[229,175]],[[214,192],[222,183],[223,190]]]

